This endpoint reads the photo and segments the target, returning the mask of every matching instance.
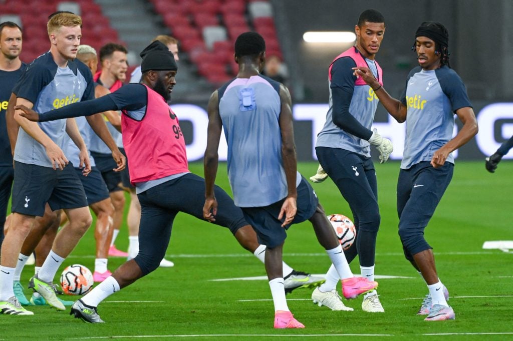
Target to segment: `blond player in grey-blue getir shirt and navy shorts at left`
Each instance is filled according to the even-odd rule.
[[[60,108],[94,98],[91,71],[74,61],[82,37],[82,18],[72,13],[51,15],[48,21],[50,51],[35,59],[13,88],[16,104],[40,110]],[[65,132],[80,150],[84,175],[91,171],[86,145],[73,119],[49,124],[34,124],[14,113],[21,126],[14,149],[14,185],[12,218],[0,260],[0,312],[33,315],[24,309],[13,293],[13,274],[17,256],[36,216],[42,216],[45,204],[52,210],[63,209],[69,224],[58,232],[49,256],[40,272],[30,279],[29,287],[40,293],[58,310],[64,305],[55,296],[52,280],[58,267],[91,225],[84,189],[63,152]],[[116,147],[100,115],[88,120],[93,130],[111,148],[119,169],[125,158]]]

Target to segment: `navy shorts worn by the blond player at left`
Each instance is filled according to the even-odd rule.
[[[64,170],[14,163],[12,212],[43,216],[48,203],[52,211],[87,207],[86,194],[73,165]]]

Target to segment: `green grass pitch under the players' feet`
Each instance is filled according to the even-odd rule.
[[[315,172],[317,164],[301,163],[298,168],[308,177]],[[190,169],[203,174],[202,164],[193,163]],[[486,240],[513,240],[513,163],[503,161],[495,174],[489,174],[484,162],[457,162],[452,183],[426,229],[440,278],[450,292],[449,304],[456,312],[456,320],[438,323],[425,322],[422,316],[416,315],[427,288],[404,259],[397,235],[399,163],[376,164],[376,169],[382,217],[376,274],[407,277],[378,279],[385,313],[362,312],[361,298],[345,302],[354,308],[353,312],[319,308],[310,300],[311,290],[298,289],[287,296],[288,304],[306,328],[274,330],[273,305],[266,280],[212,281],[263,276],[263,265],[243,250],[227,229],[179,214],[167,250],[167,258],[173,260],[174,268],[159,268],[108,297],[99,307],[105,324],[82,323],[69,315],[69,308],[57,312],[48,307],[29,307],[34,316],[0,316],[0,340],[111,337],[329,340],[341,335],[429,340],[513,338],[513,254],[482,249]],[[220,165],[216,183],[230,192],[225,164]],[[327,214],[351,216],[331,180],[312,186]],[[116,245],[126,250],[126,226],[121,231]],[[92,270],[93,254],[90,229],[65,265],[79,263]],[[289,230],[284,259],[295,269],[310,273],[322,274],[329,267],[329,258],[309,223]],[[121,258],[110,258],[109,269],[114,271],[122,263]],[[351,268],[354,273],[360,273],[357,260]],[[27,284],[32,274],[33,266],[27,266],[23,283]],[[26,294],[30,297],[28,289]],[[362,334],[369,336],[358,336]]]

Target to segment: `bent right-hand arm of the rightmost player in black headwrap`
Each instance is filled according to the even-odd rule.
[[[442,167],[450,152],[466,144],[478,133],[478,122],[471,107],[460,108],[456,110],[456,114],[463,123],[463,127],[455,137],[433,154],[431,165],[435,168]]]

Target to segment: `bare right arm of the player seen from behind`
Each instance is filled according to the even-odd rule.
[[[292,220],[298,211],[298,189],[295,185],[298,161],[295,154],[294,128],[292,124],[292,100],[290,98],[290,92],[283,84],[280,84],[280,101],[281,111],[279,124],[282,135],[282,159],[285,177],[287,179],[288,194],[283,202],[282,208],[280,209],[278,219],[281,220],[285,215],[285,220],[282,224],[284,227],[292,223]]]

